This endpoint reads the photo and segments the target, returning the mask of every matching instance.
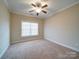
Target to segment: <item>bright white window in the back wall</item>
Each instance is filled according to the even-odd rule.
[[[38,35],[38,23],[22,22],[21,36]]]

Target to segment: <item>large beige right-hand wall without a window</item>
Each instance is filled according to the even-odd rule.
[[[79,4],[45,21],[45,39],[79,51]]]

